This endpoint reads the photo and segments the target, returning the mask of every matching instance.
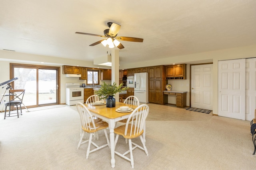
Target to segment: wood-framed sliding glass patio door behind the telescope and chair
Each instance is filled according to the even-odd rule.
[[[13,89],[25,89],[23,104],[38,107],[59,104],[60,67],[10,63]]]

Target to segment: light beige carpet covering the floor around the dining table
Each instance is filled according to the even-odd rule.
[[[157,109],[160,105],[149,106],[152,108],[148,117],[150,120],[146,121],[149,156],[135,149],[134,169],[255,169],[250,121],[168,106],[162,108],[167,110],[164,114]],[[187,114],[191,120],[184,120],[180,113]],[[159,120],[152,120],[158,114],[162,114]],[[165,116],[169,116],[169,120],[162,121]],[[170,120],[172,117],[176,120]],[[0,169],[113,169],[108,147],[90,153],[88,159],[85,155],[87,144],[76,149],[80,138],[79,125],[75,106],[24,112],[20,118],[8,117],[5,120],[4,113],[0,113]],[[103,134],[100,133],[100,139],[95,141],[99,145],[105,143]],[[139,140],[134,141],[140,144]],[[126,149],[128,145],[120,137],[116,150]],[[114,169],[132,169],[130,162],[117,155],[115,158]]]

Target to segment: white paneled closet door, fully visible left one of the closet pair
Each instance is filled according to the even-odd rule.
[[[218,115],[245,120],[245,59],[218,62]]]

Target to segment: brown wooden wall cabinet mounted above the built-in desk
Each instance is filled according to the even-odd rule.
[[[166,66],[166,79],[186,79],[187,64]]]

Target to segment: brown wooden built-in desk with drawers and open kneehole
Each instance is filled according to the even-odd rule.
[[[168,104],[168,95],[175,95],[176,96],[176,106],[177,107],[186,107],[187,92],[164,90],[163,94],[164,94],[164,104]]]

